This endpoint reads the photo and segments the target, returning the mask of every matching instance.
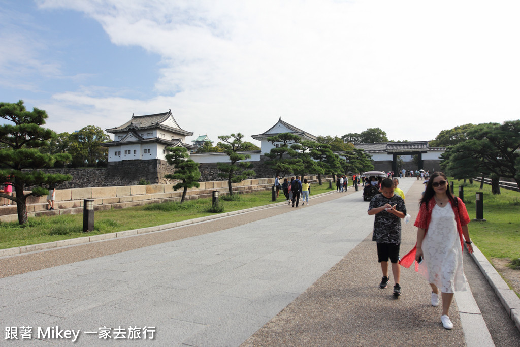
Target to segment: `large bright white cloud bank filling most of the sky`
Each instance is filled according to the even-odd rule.
[[[315,135],[379,126],[392,139],[425,140],[520,113],[514,1],[38,4],[82,11],[114,44],[162,57],[150,100],[55,95],[47,111],[76,128],[172,108],[186,130],[214,140],[261,133],[280,116]]]

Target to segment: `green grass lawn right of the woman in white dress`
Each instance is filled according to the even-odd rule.
[[[455,195],[462,181],[454,180]],[[491,186],[480,183],[464,186],[464,203],[472,219],[469,225],[470,237],[475,245],[489,258],[520,258],[520,192],[500,189],[500,195],[491,194]],[[484,219],[486,222],[473,221],[476,218],[476,192],[484,193]]]

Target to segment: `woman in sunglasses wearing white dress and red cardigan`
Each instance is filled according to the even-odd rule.
[[[432,287],[432,306],[439,305],[439,291],[443,299],[440,320],[446,329],[453,328],[448,316],[454,291],[465,291],[466,281],[462,266],[464,242],[472,253],[467,224],[470,217],[464,202],[454,197],[448,188],[448,178],[442,172],[434,172],[420,200],[417,226],[417,244],[400,261],[409,267],[418,262],[419,271]],[[465,241],[464,241],[465,240]]]

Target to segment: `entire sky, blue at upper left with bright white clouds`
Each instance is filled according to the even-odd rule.
[[[0,98],[47,126],[433,139],[520,118],[517,1],[0,0]]]

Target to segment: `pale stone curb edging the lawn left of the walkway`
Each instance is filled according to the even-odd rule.
[[[314,195],[312,198],[316,198],[316,197],[319,197],[322,195],[332,194],[334,192],[336,192],[336,191],[335,190],[326,191],[324,193]],[[311,199],[311,197],[309,197],[309,199]],[[115,233],[110,233],[110,234],[82,236],[82,237],[76,237],[73,239],[59,240],[59,241],[54,241],[54,242],[37,243],[36,245],[0,249],[0,258],[3,258],[4,256],[11,256],[11,255],[17,255],[17,254],[28,253],[28,252],[35,252],[35,251],[41,251],[41,250],[46,250],[46,249],[61,248],[61,247],[72,246],[72,245],[82,245],[84,243],[96,242],[96,241],[101,241],[101,240],[105,240],[105,239],[113,239],[113,238],[118,238],[118,237],[127,237],[127,236],[141,235],[141,234],[152,233],[152,232],[160,232],[160,231],[172,229],[172,228],[179,227],[179,226],[184,226],[184,225],[193,224],[193,223],[202,223],[205,221],[228,217],[228,216],[235,215],[235,214],[249,213],[249,212],[262,210],[262,209],[266,209],[266,208],[277,207],[277,206],[281,206],[284,204],[285,204],[285,202],[277,202],[277,203],[271,203],[271,204],[267,204],[267,205],[257,206],[257,207],[253,207],[253,208],[249,208],[249,209],[245,209],[245,210],[231,211],[231,212],[220,213],[220,214],[216,214],[216,215],[199,217],[196,219],[190,219],[190,220],[168,223],[168,224],[163,224],[163,225],[151,226],[151,227],[146,227],[146,228],[124,230],[121,232],[115,232]],[[518,307],[518,308],[520,309],[520,307]]]

